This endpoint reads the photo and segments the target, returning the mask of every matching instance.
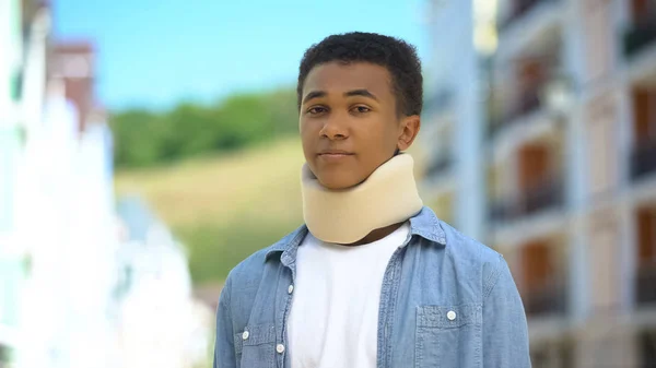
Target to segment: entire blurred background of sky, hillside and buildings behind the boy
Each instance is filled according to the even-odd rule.
[[[534,367],[656,367],[655,0],[0,0],[0,367],[211,367],[349,31],[418,47],[424,202],[504,254]]]

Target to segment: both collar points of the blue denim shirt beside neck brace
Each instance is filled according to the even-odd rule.
[[[296,251],[298,246],[307,235],[307,226],[302,225],[296,230],[292,232],[278,242],[269,247],[265,260],[269,260],[273,254],[280,254],[280,261],[285,266],[292,266],[296,262]],[[435,245],[446,247],[446,234],[440,225],[440,219],[435,216],[435,213],[423,206],[421,211],[410,217],[410,235],[420,236]]]

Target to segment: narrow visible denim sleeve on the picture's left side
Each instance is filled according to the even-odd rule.
[[[214,343],[214,368],[236,368],[233,337],[230,277],[221,290],[216,308],[216,340]]]

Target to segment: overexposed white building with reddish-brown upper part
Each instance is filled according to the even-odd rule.
[[[26,2],[23,2],[25,7]],[[25,8],[24,8],[25,9]],[[96,108],[93,50],[57,44],[39,5],[26,26],[16,241],[28,259],[15,367],[113,367],[112,139]],[[80,83],[85,88],[77,88]]]

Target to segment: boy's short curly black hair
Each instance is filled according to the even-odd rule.
[[[330,61],[371,62],[387,68],[397,99],[397,111],[405,116],[421,114],[423,76],[414,46],[395,37],[364,32],[331,35],[305,51],[296,85],[298,109],[307,74],[316,66]]]

